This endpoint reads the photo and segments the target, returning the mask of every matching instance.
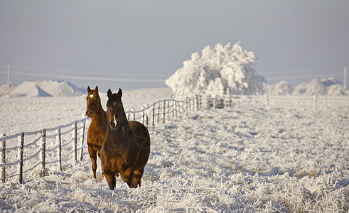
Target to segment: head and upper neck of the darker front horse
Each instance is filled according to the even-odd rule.
[[[114,94],[109,89],[107,96],[107,119],[110,128],[113,131],[117,131],[120,126],[129,124],[124,111],[124,106],[122,105],[122,89],[119,89],[119,92]]]

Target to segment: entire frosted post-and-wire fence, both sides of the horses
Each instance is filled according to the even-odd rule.
[[[163,99],[158,102],[154,102],[153,104],[147,105],[143,107],[141,110],[132,110],[126,111],[129,120],[137,120],[142,121],[145,126],[155,126],[155,124],[166,123],[167,120],[178,119],[188,114],[193,113],[194,111],[199,111],[202,108],[225,108],[225,107],[233,107],[235,104],[240,104],[242,102],[251,103],[251,104],[261,104],[264,105],[267,109],[270,107],[277,107],[277,104],[283,104],[285,102],[294,102],[296,104],[304,104],[306,107],[312,107],[313,109],[317,109],[319,106],[323,106],[326,102],[338,102],[348,104],[349,106],[349,98],[348,97],[318,97],[314,95],[313,97],[305,97],[305,96],[269,96],[268,94],[264,95],[230,95],[222,94],[220,96],[212,97],[208,94],[198,94],[193,97],[187,97],[182,101],[178,101],[175,99]],[[80,121],[73,121],[69,124],[65,124],[62,126],[56,126],[50,129],[43,129],[42,131],[31,131],[31,132],[22,132],[16,133],[12,136],[4,135],[0,138],[0,142],[2,142],[2,161],[0,164],[0,168],[2,168],[1,180],[2,182],[6,182],[6,178],[13,178],[19,176],[19,182],[23,182],[23,173],[28,173],[28,171],[33,170],[33,168],[41,165],[40,175],[45,175],[46,165],[52,165],[58,163],[58,167],[60,171],[62,171],[62,161],[69,158],[70,155],[73,155],[73,163],[77,163],[77,152],[81,151],[80,161],[82,161],[82,153],[83,148],[86,146],[84,144],[85,138],[85,124],[86,118],[81,119]],[[83,126],[77,127],[77,124],[83,123]],[[65,131],[61,131],[62,129],[69,128]],[[77,146],[77,130],[80,130],[80,141],[81,145]],[[55,132],[51,133],[50,132]],[[67,135],[68,133],[73,132],[73,137],[65,140],[67,142],[63,143],[62,136]],[[33,137],[31,138],[30,143],[24,143],[24,137]],[[12,140],[14,138],[18,138],[18,146],[14,147],[6,147],[6,141]],[[46,143],[47,140],[55,139],[53,143]],[[38,141],[41,141],[41,144],[38,145]],[[68,148],[69,144],[73,141],[73,149]],[[46,147],[48,146],[48,147]],[[23,152],[23,149],[33,153],[32,155],[28,155]],[[63,150],[64,148],[64,150]],[[15,151],[18,151],[15,154]],[[56,155],[53,153],[57,151]],[[62,156],[62,152],[66,151],[67,154]],[[16,159],[14,162],[7,163],[7,156],[13,157],[12,159]],[[28,160],[32,160],[33,158],[38,157],[41,160],[39,163],[35,165],[31,165],[31,168],[27,170],[23,170],[24,163]],[[6,170],[11,170],[14,165],[17,166],[17,173],[6,176]],[[13,173],[13,169],[11,170]]]

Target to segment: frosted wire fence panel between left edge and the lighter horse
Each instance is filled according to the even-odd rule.
[[[51,129],[4,135],[0,138],[2,182],[18,180],[23,183],[23,173],[28,177],[43,177],[48,167],[63,171],[63,163],[71,165],[82,160],[85,126],[86,119],[81,119]]]

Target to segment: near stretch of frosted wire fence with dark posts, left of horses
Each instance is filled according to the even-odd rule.
[[[77,128],[77,124],[83,124],[83,126],[79,126]],[[28,171],[33,170],[34,168],[41,165],[40,169],[40,176],[45,176],[45,169],[46,165],[51,165],[54,163],[59,163],[59,168],[62,171],[62,160],[68,158],[70,155],[73,155],[73,161],[77,162],[77,151],[83,150],[83,141],[85,138],[85,124],[86,124],[86,118],[81,119],[79,121],[73,121],[69,124],[65,124],[62,126],[57,126],[50,129],[43,129],[42,131],[31,131],[31,132],[22,132],[22,133],[16,133],[12,136],[6,136],[4,135],[2,138],[0,138],[0,142],[2,142],[2,160],[0,164],[0,168],[2,168],[1,173],[1,180],[2,182],[6,182],[6,179],[14,178],[18,176],[18,181],[20,183],[23,183],[23,173],[28,173]],[[69,128],[70,126],[74,126],[74,128],[70,128],[67,131],[61,132],[61,129]],[[77,146],[77,130],[82,131],[82,133],[79,134],[79,139],[82,141],[81,146]],[[54,133],[51,133],[53,132]],[[61,136],[67,135],[68,133],[73,132],[73,138],[68,138],[67,143],[63,143],[63,147],[65,147],[64,151],[67,151],[68,154],[66,154],[62,158],[62,141]],[[18,146],[14,146],[11,148],[6,148],[6,141],[11,141],[12,139],[18,137]],[[26,140],[25,140],[26,138]],[[57,140],[58,144],[53,143],[47,143],[47,140],[54,138],[59,138],[59,141]],[[32,141],[30,143],[26,143],[25,141]],[[40,144],[37,142],[41,141]],[[68,148],[68,144],[74,142],[73,144],[73,151],[71,148]],[[28,151],[28,153],[24,153],[24,148]],[[55,156],[55,151],[58,150],[58,156]],[[17,154],[16,154],[17,151]],[[28,155],[29,154],[29,155]],[[6,158],[16,159],[13,162],[7,162]],[[31,168],[28,168],[26,170],[23,170],[25,167],[25,163],[28,162],[28,160],[33,160],[35,158],[39,159],[39,163],[33,163],[35,165],[31,165]],[[58,158],[58,159],[57,159]],[[50,160],[51,159],[51,160]],[[53,160],[52,160],[53,159]],[[82,153],[81,158],[82,160]],[[17,171],[14,171],[14,165],[17,165]],[[6,173],[10,172],[11,175],[7,175]]]

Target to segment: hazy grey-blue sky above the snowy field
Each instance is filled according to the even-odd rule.
[[[237,41],[257,55],[254,68],[269,83],[343,82],[349,1],[0,0],[0,84],[10,65],[15,84],[166,87],[191,53]]]

